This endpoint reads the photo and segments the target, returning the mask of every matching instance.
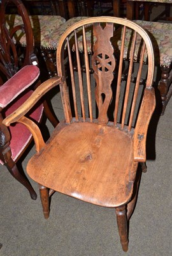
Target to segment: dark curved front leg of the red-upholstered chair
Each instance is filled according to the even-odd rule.
[[[22,175],[17,168],[16,163],[10,159],[10,161],[8,161],[8,163],[6,163],[6,167],[8,168],[9,172],[11,173],[11,175],[18,180],[22,185],[25,186],[25,188],[27,188],[27,190],[29,191],[31,198],[33,200],[36,200],[37,195],[36,192],[34,191],[34,189],[32,188],[31,184],[29,183],[29,180],[27,180],[27,177],[24,177],[24,175]]]

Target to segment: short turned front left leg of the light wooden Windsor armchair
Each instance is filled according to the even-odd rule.
[[[39,193],[40,193],[40,197],[41,197],[41,203],[42,203],[42,206],[43,206],[44,218],[48,219],[49,214],[50,214],[48,188],[46,188],[43,185],[39,185]]]

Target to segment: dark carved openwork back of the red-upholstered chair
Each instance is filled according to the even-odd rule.
[[[23,24],[15,25],[10,21],[9,26],[6,22],[6,9],[10,3],[17,7],[18,15],[22,17]],[[17,31],[21,31],[21,33],[18,34]],[[20,47],[20,36],[24,34],[26,47]],[[33,61],[36,61],[35,64],[38,63],[34,54],[33,33],[27,10],[20,0],[3,0],[0,9],[0,72],[9,79],[20,68],[32,64]]]

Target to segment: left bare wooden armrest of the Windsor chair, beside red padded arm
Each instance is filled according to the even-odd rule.
[[[40,84],[39,87],[32,93],[31,97],[27,99],[20,108],[16,109],[11,115],[3,120],[3,124],[9,126],[11,123],[17,122],[24,116],[35,104],[38,102],[45,93],[54,88],[57,84],[62,82],[62,77],[52,77]]]

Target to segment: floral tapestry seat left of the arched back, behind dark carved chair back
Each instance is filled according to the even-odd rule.
[[[74,17],[66,21],[61,16],[29,16],[33,29],[34,45],[43,49],[57,49],[59,39],[64,31],[66,31],[69,26],[85,18],[87,17]],[[20,17],[20,15],[6,15],[8,28],[13,28],[14,25],[18,26],[22,23],[22,17]],[[17,37],[20,44],[25,46],[25,34],[22,31],[17,31]]]

